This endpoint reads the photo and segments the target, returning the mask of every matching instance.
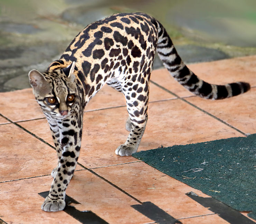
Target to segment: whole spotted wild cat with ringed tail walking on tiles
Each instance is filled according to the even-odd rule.
[[[199,79],[183,63],[162,24],[147,14],[121,13],[93,22],[46,72],[29,72],[58,155],[58,166],[51,173],[54,180],[41,206],[44,211],[65,207],[66,188],[81,146],[83,110],[105,83],[124,94],[129,114],[130,134],[115,153],[127,156],[137,151],[148,119],[155,52],[174,79],[202,98],[225,99],[250,89],[245,82],[213,85]]]

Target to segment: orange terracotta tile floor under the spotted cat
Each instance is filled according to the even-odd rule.
[[[223,101],[204,100],[166,69],[153,71],[149,120],[139,151],[256,133],[256,56],[189,67],[206,81],[243,80],[252,90]],[[207,195],[132,156],[114,153],[126,140],[126,118],[124,96],[108,86],[85,108],[79,164],[67,189],[80,204],[72,205],[108,223],[154,223],[131,207],[139,202],[152,202],[182,223],[228,223],[185,193]],[[64,211],[40,209],[44,198],[38,193],[49,190],[57,157],[31,89],[0,93],[0,134],[0,223],[79,223]]]

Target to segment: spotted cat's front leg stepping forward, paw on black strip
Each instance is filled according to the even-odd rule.
[[[81,146],[82,124],[77,123],[74,118],[58,121],[62,153],[49,195],[41,206],[44,211],[55,212],[65,207],[66,189],[74,174]]]

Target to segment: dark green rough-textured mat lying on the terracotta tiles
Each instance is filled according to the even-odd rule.
[[[256,220],[256,134],[133,156]]]

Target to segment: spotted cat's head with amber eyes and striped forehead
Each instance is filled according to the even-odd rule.
[[[43,74],[33,69],[28,74],[37,102],[56,119],[69,116],[77,104],[74,68],[75,62],[63,69]]]

